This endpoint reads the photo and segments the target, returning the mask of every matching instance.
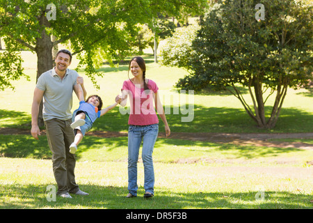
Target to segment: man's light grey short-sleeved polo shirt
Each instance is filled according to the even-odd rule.
[[[40,75],[36,87],[45,91],[42,110],[45,121],[52,118],[63,121],[72,118],[72,95],[78,76],[75,70],[67,69],[65,76],[61,79],[54,68]]]

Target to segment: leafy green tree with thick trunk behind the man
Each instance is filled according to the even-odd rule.
[[[204,2],[204,0],[198,0]],[[19,52],[26,47],[38,57],[37,79],[53,68],[52,48],[68,44],[96,85],[97,68],[104,59],[121,60],[132,52],[135,25],[152,24],[158,13],[177,15],[188,0],[0,0],[0,36],[6,51],[0,54],[0,90],[14,89],[10,81],[27,77]],[[54,36],[52,40],[51,36]],[[38,117],[42,125],[41,114]]]

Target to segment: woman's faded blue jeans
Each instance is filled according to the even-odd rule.
[[[137,162],[141,141],[143,141],[143,167],[145,172],[145,192],[154,194],[154,169],[152,153],[159,132],[159,124],[129,125],[128,130],[128,190],[137,196]]]

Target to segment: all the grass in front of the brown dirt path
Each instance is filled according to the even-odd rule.
[[[88,197],[47,201],[56,185],[45,136],[0,135],[0,208],[312,208],[313,153],[297,148],[158,139],[155,197],[127,194],[127,137],[86,136],[77,151],[77,183]],[[14,141],[14,142],[13,142]],[[264,200],[255,198],[264,192]]]

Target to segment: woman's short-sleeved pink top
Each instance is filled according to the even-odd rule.
[[[153,106],[153,93],[157,93],[159,88],[151,79],[148,79],[147,86],[150,90],[141,89],[140,84],[135,86],[130,79],[123,83],[122,90],[127,91],[131,105],[128,119],[129,125],[152,125],[159,123]]]

